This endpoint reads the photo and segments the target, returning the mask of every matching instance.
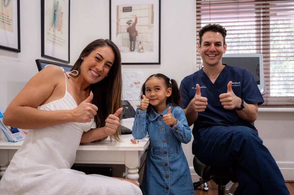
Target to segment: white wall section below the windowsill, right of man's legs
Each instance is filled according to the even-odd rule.
[[[285,180],[294,180],[294,112],[260,109],[255,121],[263,144],[277,162]]]

